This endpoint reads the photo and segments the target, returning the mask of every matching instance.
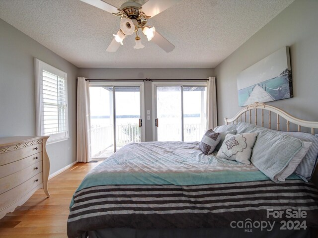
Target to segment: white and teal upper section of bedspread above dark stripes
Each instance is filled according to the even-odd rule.
[[[94,168],[77,191],[106,184],[198,185],[268,180],[252,164],[217,158],[216,154],[203,154],[198,142],[130,143]],[[293,175],[290,179],[297,178]]]

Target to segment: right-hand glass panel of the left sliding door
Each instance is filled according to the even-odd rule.
[[[141,142],[140,87],[115,87],[116,151],[131,142]]]

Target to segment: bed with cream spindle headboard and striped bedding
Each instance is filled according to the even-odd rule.
[[[318,122],[296,119],[273,106],[254,103],[214,128],[220,136],[225,133],[225,138],[233,137],[228,133],[231,129],[238,135],[257,134],[251,148],[252,163],[220,157],[224,138],[219,152],[208,155],[200,150],[201,142],[124,146],[79,185],[70,205],[68,237],[316,237],[318,190],[307,181],[313,171],[306,170],[311,173],[308,177],[297,167],[286,179],[277,180],[307,140],[295,138],[296,132],[281,132],[283,120],[284,130],[294,128],[292,123],[298,131],[309,127],[311,133],[296,137],[312,136],[318,141]],[[277,131],[271,128],[274,121]],[[265,123],[269,129],[264,128]],[[282,144],[273,142],[278,137]],[[268,141],[272,143],[271,156],[260,147]],[[275,151],[275,146],[279,150]],[[318,155],[313,150],[308,147],[305,151],[312,161],[300,162],[311,166],[309,170],[317,164]],[[286,163],[273,165],[268,160]]]

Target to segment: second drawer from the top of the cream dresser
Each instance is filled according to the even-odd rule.
[[[0,179],[11,175],[13,173],[16,173],[20,170],[23,170],[26,167],[29,167],[39,161],[42,161],[42,153],[36,153],[34,155],[31,155],[29,157],[26,157],[22,160],[17,160],[13,163],[9,163],[6,165],[0,166]]]

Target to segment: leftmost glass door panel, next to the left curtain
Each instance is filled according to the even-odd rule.
[[[113,87],[90,87],[90,141],[93,159],[114,153]]]

